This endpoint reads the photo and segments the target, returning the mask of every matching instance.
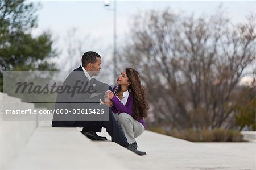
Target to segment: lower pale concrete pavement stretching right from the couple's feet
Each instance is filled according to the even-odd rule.
[[[105,130],[100,135],[108,136]],[[108,139],[110,139],[110,136],[108,136]],[[134,169],[134,164],[136,165],[135,167],[139,167],[135,169],[256,169],[256,144],[254,143],[230,143],[230,148],[238,148],[242,144],[243,147],[241,150],[224,149],[225,147],[216,149],[215,147],[203,146],[199,143],[188,142],[151,131],[144,131],[137,138],[137,143],[138,149],[146,151],[147,155],[142,158],[129,157],[129,160],[133,160],[133,164],[126,161],[126,156],[119,154],[119,150],[121,149],[115,151],[107,143],[96,143],[102,150],[108,152],[109,155],[114,155],[116,159],[130,169]]]

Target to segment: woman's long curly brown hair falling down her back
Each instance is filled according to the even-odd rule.
[[[149,105],[146,102],[146,89],[141,85],[141,76],[133,68],[125,69],[129,85],[129,92],[133,94],[133,118],[135,120],[143,119],[147,117],[147,110]],[[121,86],[118,85],[117,94],[120,92]]]

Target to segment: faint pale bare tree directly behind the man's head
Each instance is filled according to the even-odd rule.
[[[65,37],[65,46],[67,48],[63,51],[61,58],[61,69],[66,71],[73,71],[73,69],[81,65],[81,57],[86,51],[96,51],[102,56],[101,73],[96,79],[113,85],[113,68],[112,61],[110,61],[108,54],[112,53],[112,48],[102,47],[99,38],[93,38],[89,34],[81,35],[77,28],[71,28]]]

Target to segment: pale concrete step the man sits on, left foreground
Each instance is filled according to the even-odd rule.
[[[127,169],[76,128],[53,128],[50,123],[40,123],[18,159],[5,169]]]

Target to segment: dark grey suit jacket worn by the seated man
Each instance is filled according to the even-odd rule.
[[[56,98],[52,127],[73,127],[74,123],[79,121],[79,115],[73,114],[73,110],[89,109],[99,105],[100,99],[104,99],[104,93],[110,89],[109,87],[108,84],[94,78],[89,81],[82,67],[76,68],[64,81],[62,85],[64,92],[59,93]],[[57,114],[60,110],[67,111],[67,114]],[[90,121],[85,121],[85,123],[90,123]]]

